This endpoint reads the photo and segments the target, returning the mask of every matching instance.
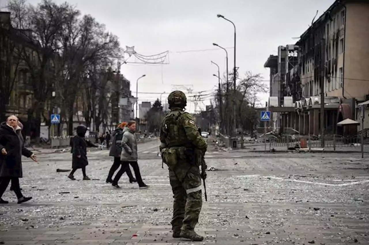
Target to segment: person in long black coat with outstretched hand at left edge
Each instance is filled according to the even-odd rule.
[[[9,203],[2,199],[10,181],[13,184],[14,193],[18,198],[18,203],[27,202],[32,197],[23,196],[19,178],[23,177],[22,155],[37,161],[37,157],[30,150],[25,148],[21,127],[18,126],[18,118],[14,115],[7,118],[6,122],[0,124],[0,204]]]

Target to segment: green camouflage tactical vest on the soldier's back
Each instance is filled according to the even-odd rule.
[[[163,120],[162,130],[168,147],[192,147],[192,143],[187,138],[183,125],[179,121],[181,115],[184,113],[186,112],[180,110],[170,111]]]

